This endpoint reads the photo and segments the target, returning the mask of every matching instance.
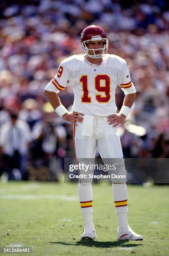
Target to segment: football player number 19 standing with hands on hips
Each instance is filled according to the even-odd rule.
[[[81,46],[84,54],[64,59],[44,93],[55,112],[73,123],[77,159],[94,159],[96,148],[103,159],[123,159],[116,126],[124,122],[136,95],[129,69],[124,59],[107,53],[108,39],[99,26],[92,25],[83,30]],[[73,112],[68,112],[58,96],[58,92],[67,86],[72,86],[74,92]],[[116,86],[125,94],[119,113],[116,113]],[[126,174],[125,168],[122,169]],[[112,179],[112,190],[119,220],[117,239],[143,240],[128,224],[126,179]],[[85,224],[81,239],[94,239],[91,183],[80,180],[78,195]]]

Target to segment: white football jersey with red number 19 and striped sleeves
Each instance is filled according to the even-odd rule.
[[[83,54],[64,59],[58,73],[46,86],[52,92],[73,87],[73,111],[104,117],[116,113],[117,85],[125,95],[136,92],[126,61],[114,54],[106,54],[101,64],[91,64]]]

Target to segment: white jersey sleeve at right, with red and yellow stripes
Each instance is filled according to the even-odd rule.
[[[131,77],[126,61],[123,64],[121,70],[121,77],[118,85],[121,88],[121,90],[123,90],[125,95],[136,92],[136,88],[134,87],[134,84],[131,82]]]

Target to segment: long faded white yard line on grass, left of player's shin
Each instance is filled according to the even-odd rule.
[[[78,197],[65,195],[0,195],[0,199],[58,199],[62,201],[77,201]]]

